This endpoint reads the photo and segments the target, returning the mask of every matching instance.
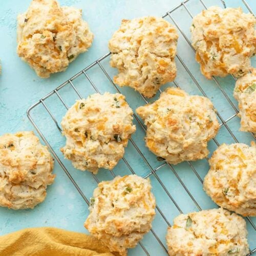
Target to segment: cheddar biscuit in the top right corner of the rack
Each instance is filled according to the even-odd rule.
[[[241,8],[212,6],[193,18],[190,27],[196,60],[206,78],[249,72],[256,52],[256,19]]]

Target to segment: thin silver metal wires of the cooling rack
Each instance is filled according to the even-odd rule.
[[[191,49],[193,49],[193,51],[195,52],[194,48],[191,45],[191,42],[189,41],[189,39],[187,38],[187,36],[185,35],[185,33],[182,31],[182,29],[180,28],[180,26],[178,25],[178,23],[176,22],[176,20],[173,17],[173,12],[175,12],[176,10],[178,10],[179,8],[183,7],[186,12],[188,13],[188,15],[193,18],[193,15],[191,14],[191,12],[189,11],[186,3],[191,2],[191,0],[186,0],[184,2],[182,2],[181,4],[179,4],[178,6],[176,6],[175,8],[173,8],[172,10],[166,12],[162,17],[169,17],[169,19],[172,21],[172,23],[176,26],[176,28],[179,30],[179,32],[181,33],[181,35],[183,36],[183,38],[186,40],[187,44],[191,47]],[[223,4],[224,8],[226,8],[226,4],[223,0],[220,0],[221,3]],[[245,7],[249,10],[250,13],[253,13],[253,11],[251,10],[251,8],[249,7],[249,5],[247,4],[247,2],[245,0],[242,0]],[[203,0],[199,0],[200,4],[202,5],[202,8],[207,9],[205,3],[203,2]],[[255,16],[255,15],[254,15]],[[52,92],[50,92],[48,95],[46,95],[45,97],[41,98],[38,102],[36,102],[35,104],[33,104],[27,111],[27,115],[29,120],[32,122],[33,126],[35,127],[36,131],[38,132],[38,134],[40,135],[40,137],[42,138],[42,140],[45,142],[45,144],[48,146],[49,150],[51,151],[51,153],[53,154],[54,158],[57,160],[57,162],[59,163],[59,165],[61,166],[61,168],[64,170],[64,172],[67,174],[67,176],[69,177],[69,179],[71,180],[71,182],[73,183],[73,185],[76,187],[76,189],[78,190],[79,194],[82,196],[82,198],[84,199],[84,201],[86,201],[86,203],[89,205],[90,201],[88,200],[88,198],[83,194],[82,190],[80,189],[80,187],[78,186],[78,184],[75,182],[75,180],[73,179],[73,177],[71,176],[71,174],[69,173],[67,167],[62,163],[62,161],[59,159],[59,157],[57,156],[57,154],[55,153],[55,151],[53,150],[52,146],[50,145],[50,143],[48,142],[48,140],[46,139],[46,137],[44,136],[44,134],[41,132],[41,130],[39,129],[39,127],[37,126],[37,124],[35,123],[35,121],[33,120],[32,116],[31,116],[31,111],[38,105],[42,105],[44,106],[45,110],[47,111],[47,113],[51,116],[52,120],[54,121],[55,125],[57,126],[57,129],[59,130],[59,132],[61,133],[61,128],[58,125],[58,122],[55,118],[55,116],[53,115],[53,113],[50,111],[50,109],[48,108],[45,100],[48,99],[49,97],[56,95],[58,97],[58,99],[60,100],[60,102],[65,106],[65,108],[68,110],[68,105],[66,104],[66,102],[63,100],[63,98],[60,96],[60,94],[58,93],[58,91],[64,87],[69,86],[71,89],[74,90],[74,92],[76,93],[76,95],[82,99],[82,95],[79,93],[79,91],[77,90],[77,88],[74,86],[73,81],[78,78],[79,76],[85,76],[86,79],[90,82],[91,86],[93,87],[93,89],[95,90],[95,92],[100,93],[98,88],[95,86],[95,83],[92,81],[92,79],[89,77],[88,75],[88,71],[93,68],[93,67],[97,67],[97,69],[99,70],[98,72],[103,72],[104,76],[106,79],[108,79],[111,84],[114,86],[114,88],[116,89],[116,91],[118,93],[120,93],[118,87],[115,85],[115,83],[113,82],[113,80],[111,79],[110,75],[106,72],[106,70],[103,68],[101,61],[104,60],[105,58],[109,57],[111,55],[111,53],[105,54],[104,56],[102,56],[101,58],[97,59],[96,61],[94,61],[93,63],[91,63],[91,65],[89,65],[87,68],[83,69],[82,71],[80,71],[79,73],[77,73],[76,75],[74,75],[72,78],[70,78],[69,80],[67,80],[66,82],[62,83],[59,87],[57,87],[55,90],[53,90]],[[188,75],[190,76],[190,78],[193,80],[193,82],[195,83],[195,85],[197,86],[197,88],[200,90],[200,92],[203,94],[203,96],[207,97],[206,93],[204,92],[204,90],[202,89],[202,87],[200,86],[199,82],[197,81],[197,79],[195,78],[195,76],[190,72],[190,70],[188,69],[188,67],[186,66],[186,64],[184,63],[184,61],[182,60],[182,58],[180,57],[179,54],[176,55],[177,59],[179,60],[179,62],[181,63],[181,65],[184,67],[184,69],[186,70],[186,72],[188,73]],[[232,133],[232,131],[230,130],[230,127],[228,126],[227,122],[230,121],[231,119],[233,119],[234,117],[237,116],[238,114],[238,109],[236,107],[236,105],[233,104],[233,102],[231,101],[231,99],[228,97],[227,93],[223,90],[223,88],[221,87],[220,83],[218,82],[218,80],[215,77],[212,77],[213,81],[217,84],[219,90],[221,91],[221,93],[224,95],[224,97],[226,98],[226,100],[229,102],[229,104],[231,105],[233,111],[235,112],[235,114],[231,115],[229,118],[227,118],[226,120],[224,120],[222,118],[222,116],[220,115],[219,112],[217,112],[217,115],[221,121],[220,126],[225,126],[226,130],[228,131],[229,135],[233,138],[234,141],[239,142],[238,139],[236,138],[236,136],[234,135],[234,133]],[[233,79],[236,80],[236,78],[233,76]],[[177,81],[174,81],[174,84],[176,87],[179,87],[179,84],[177,83]],[[159,92],[161,93],[161,90],[159,90]],[[143,98],[145,103],[148,103],[148,101],[141,95],[141,97]],[[135,119],[138,121],[139,125],[142,127],[142,130],[144,132],[146,132],[146,129],[144,127],[144,125],[142,124],[142,122],[140,121],[140,119],[137,117],[136,114],[134,114]],[[253,134],[251,134],[252,137],[255,139],[255,136]],[[162,164],[160,164],[159,166],[157,166],[156,168],[153,168],[153,166],[150,164],[150,162],[146,159],[146,157],[143,155],[143,153],[141,152],[140,148],[138,147],[138,145],[135,143],[135,141],[131,138],[130,139],[132,145],[135,147],[136,151],[138,152],[138,154],[140,155],[140,157],[143,159],[144,163],[146,164],[146,166],[150,169],[150,173],[148,173],[146,176],[144,176],[143,178],[147,178],[150,176],[154,176],[156,178],[156,180],[159,182],[159,184],[161,185],[161,187],[164,189],[165,193],[167,194],[167,196],[169,197],[170,200],[172,200],[173,204],[176,206],[176,208],[178,209],[178,211],[182,214],[182,210],[180,208],[180,206],[178,205],[178,203],[176,202],[176,200],[173,198],[172,195],[170,195],[168,189],[166,188],[166,186],[163,184],[162,180],[160,179],[159,175],[158,175],[158,170],[161,169],[163,166],[167,166],[171,172],[173,172],[173,174],[175,175],[175,177],[178,179],[178,181],[180,182],[181,186],[185,189],[186,193],[188,194],[188,196],[190,197],[191,200],[193,200],[194,204],[196,205],[196,207],[198,208],[198,210],[201,210],[202,208],[200,207],[200,205],[198,204],[198,202],[196,201],[196,199],[193,197],[193,195],[190,193],[188,187],[184,184],[184,182],[182,181],[182,179],[180,178],[179,174],[176,172],[175,168],[170,165],[167,162],[163,162]],[[214,139],[214,142],[216,143],[217,146],[219,146],[219,142],[217,141],[217,139]],[[126,166],[129,168],[130,172],[132,174],[135,174],[134,169],[132,168],[131,164],[123,157],[122,159],[124,161],[124,163],[126,164]],[[190,168],[193,170],[194,174],[196,175],[196,177],[199,179],[199,181],[201,183],[203,183],[202,178],[200,177],[200,175],[198,174],[196,168],[194,167],[192,162],[188,162],[188,165],[190,166]],[[110,173],[113,177],[115,177],[115,174],[112,170],[110,170]],[[99,183],[98,178],[92,174],[93,179]],[[170,226],[169,221],[167,220],[167,218],[165,217],[165,215],[163,214],[163,211],[159,208],[159,206],[156,206],[157,211],[159,212],[159,214],[161,215],[161,217],[163,218],[163,220],[166,222],[166,224],[168,226]],[[255,225],[253,224],[252,220],[250,218],[247,218],[248,222],[250,223],[250,225],[252,226],[252,228],[254,229],[254,231],[256,230]],[[161,247],[163,248],[163,250],[167,253],[167,249],[165,247],[165,245],[162,243],[162,241],[160,240],[160,238],[158,237],[157,233],[151,229],[151,232],[153,234],[153,236],[156,238],[157,242],[161,245]],[[150,255],[150,252],[147,251],[147,249],[143,246],[143,244],[140,242],[139,243],[141,248],[143,249],[143,251],[145,252],[146,255]],[[248,255],[252,255],[254,252],[256,252],[256,248],[254,249],[250,249],[250,253]]]

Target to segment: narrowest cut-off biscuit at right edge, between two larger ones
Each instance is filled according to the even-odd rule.
[[[234,98],[239,103],[240,131],[256,133],[256,69],[237,80]]]

